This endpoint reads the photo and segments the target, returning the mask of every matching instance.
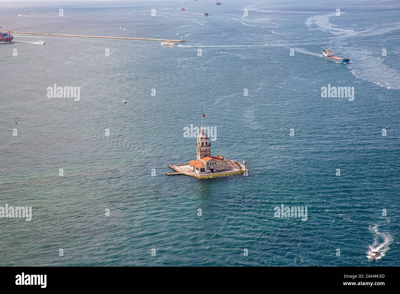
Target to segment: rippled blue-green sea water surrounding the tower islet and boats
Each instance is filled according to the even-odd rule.
[[[177,39],[179,28],[187,41],[0,45],[0,206],[33,214],[0,218],[0,265],[400,266],[399,1],[32,2],[0,15],[4,30]],[[351,63],[320,58],[329,45]],[[79,86],[80,101],[48,98],[54,84]],[[328,84],[354,87],[354,101],[322,98]],[[164,175],[195,158],[183,132],[200,107],[217,129],[212,154],[245,158],[248,176]],[[307,220],[274,218],[281,204],[307,206]]]

